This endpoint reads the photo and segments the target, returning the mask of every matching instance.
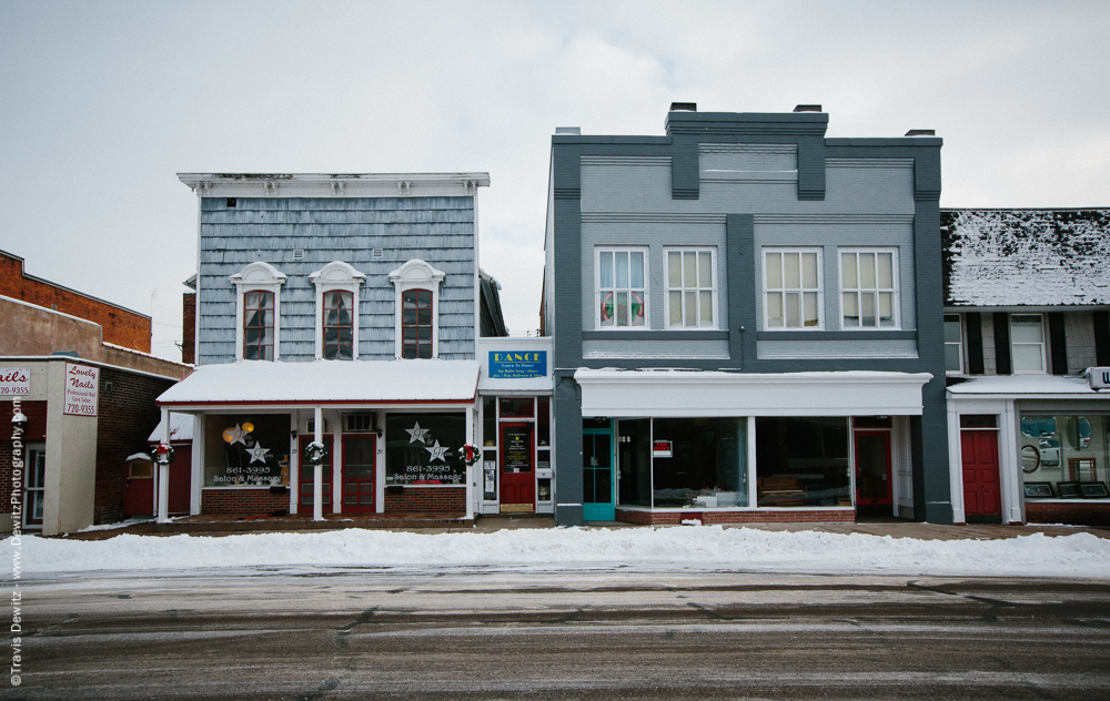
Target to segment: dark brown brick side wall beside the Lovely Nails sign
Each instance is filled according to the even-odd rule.
[[[112,384],[110,393],[108,383]],[[173,384],[172,379],[100,368],[93,524],[123,520],[124,460],[129,455],[150,450],[147,439],[162,418],[154,399]]]

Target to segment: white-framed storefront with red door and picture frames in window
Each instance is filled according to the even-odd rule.
[[[1110,393],[975,377],[948,388],[948,421],[957,522],[1110,525]]]

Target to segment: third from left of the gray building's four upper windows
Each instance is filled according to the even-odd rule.
[[[819,329],[820,248],[764,248],[764,327]]]

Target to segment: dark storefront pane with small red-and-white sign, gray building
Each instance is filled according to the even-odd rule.
[[[746,429],[741,418],[654,419],[654,505],[747,506]]]

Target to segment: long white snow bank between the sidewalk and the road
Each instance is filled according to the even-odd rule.
[[[421,535],[347,529],[222,538],[123,535],[77,541],[22,538],[24,577],[90,570],[252,566],[634,567],[801,573],[1076,577],[1110,580],[1110,540],[1042,534],[1005,540],[917,540],[719,526],[555,528]],[[0,558],[11,573],[9,558]]]

